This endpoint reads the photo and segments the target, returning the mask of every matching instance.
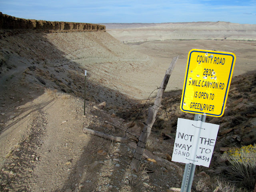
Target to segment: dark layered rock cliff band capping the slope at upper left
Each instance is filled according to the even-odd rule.
[[[44,31],[105,31],[104,25],[90,23],[57,22],[16,18],[0,12],[0,30],[44,30]]]

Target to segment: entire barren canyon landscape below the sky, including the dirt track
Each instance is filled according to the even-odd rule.
[[[197,168],[192,187],[195,191],[202,179],[213,191],[218,186],[216,176],[226,171],[220,158],[224,148],[255,143],[255,26],[87,24],[25,20],[1,13],[0,190],[169,192],[180,188],[184,165],[171,162],[170,156],[177,118],[194,118],[179,105],[188,52],[200,48],[236,54],[224,116],[206,118],[220,124],[212,162],[210,168]],[[140,172],[131,172],[136,138],[129,135],[128,143],[113,142],[85,134],[84,128],[114,136],[125,137],[126,130],[139,135],[176,56],[150,134],[150,155],[142,159]]]

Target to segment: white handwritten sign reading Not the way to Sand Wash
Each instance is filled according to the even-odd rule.
[[[172,161],[209,167],[219,125],[178,118]]]

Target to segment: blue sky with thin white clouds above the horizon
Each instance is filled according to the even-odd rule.
[[[25,19],[87,23],[256,24],[256,0],[0,0],[0,12]]]

